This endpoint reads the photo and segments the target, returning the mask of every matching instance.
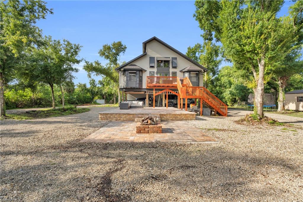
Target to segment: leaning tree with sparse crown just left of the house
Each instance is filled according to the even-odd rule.
[[[119,75],[115,71],[115,68],[119,66],[118,60],[121,54],[124,54],[126,46],[121,41],[112,42],[112,44],[103,45],[102,49],[99,50],[99,55],[109,62],[103,66],[98,60],[95,62],[85,61],[83,69],[88,72],[88,77],[93,73],[96,76],[105,76],[113,83],[113,88],[118,90],[118,102],[120,102],[120,90],[119,90]]]

